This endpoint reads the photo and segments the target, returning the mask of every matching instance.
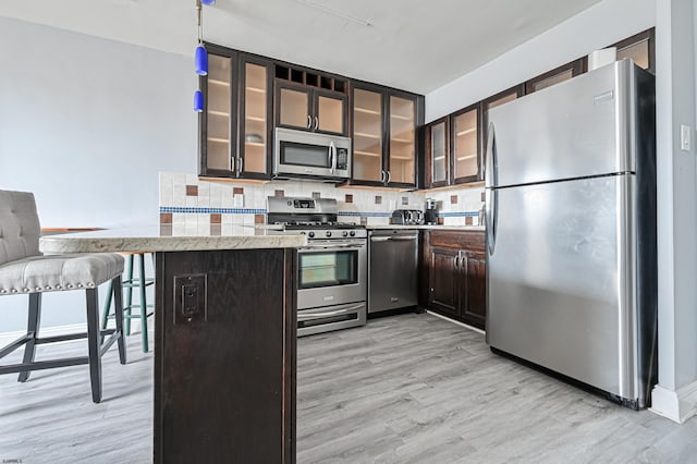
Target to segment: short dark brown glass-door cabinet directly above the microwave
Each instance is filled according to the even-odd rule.
[[[276,77],[277,127],[348,135],[345,81],[280,64]]]

